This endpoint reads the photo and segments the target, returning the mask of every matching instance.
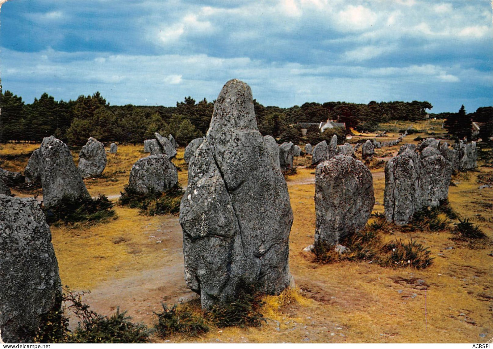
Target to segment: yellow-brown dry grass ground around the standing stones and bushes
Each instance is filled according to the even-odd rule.
[[[396,129],[410,123],[392,123]],[[376,149],[382,158],[395,155],[406,142],[418,143],[417,136],[441,121],[413,124],[423,133],[408,135],[397,146]],[[374,135],[354,137],[369,138]],[[378,139],[391,140],[398,133]],[[0,145],[1,167],[22,172],[29,154],[39,144]],[[174,163],[179,182],[186,186],[187,171],[180,148]],[[77,163],[78,154],[73,152]],[[133,163],[143,153],[142,145],[118,146],[107,154],[103,175],[85,180],[93,196],[105,194],[116,201]],[[315,169],[305,167],[310,157],[297,158],[297,173],[287,178],[294,213],[290,235],[289,265],[296,288],[281,296],[267,296],[260,328],[211,328],[199,338],[176,336],[171,342],[201,343],[486,343],[493,338],[493,188],[479,189],[480,172],[458,174],[451,186],[449,201],[461,217],[479,224],[488,236],[483,244],[470,245],[452,240],[449,229],[440,232],[404,233],[395,229],[388,241],[413,239],[429,246],[433,264],[424,270],[390,269],[377,264],[343,261],[320,265],[303,248],[314,243]],[[4,160],[7,159],[7,160]],[[378,159],[374,159],[374,164]],[[479,164],[481,165],[481,163]],[[384,212],[384,168],[371,170],[376,205]],[[13,191],[15,194],[15,191]],[[29,194],[19,194],[21,197]],[[143,216],[137,209],[115,206],[117,217],[90,227],[52,227],[52,241],[63,284],[73,290],[91,290],[86,301],[102,314],[117,306],[128,310],[136,321],[151,326],[152,311],[161,303],[172,305],[196,299],[183,276],[181,229],[177,216]],[[451,248],[452,247],[452,248]],[[153,337],[155,342],[163,342]]]

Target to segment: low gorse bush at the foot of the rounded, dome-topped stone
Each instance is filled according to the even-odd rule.
[[[118,203],[134,209],[140,209],[140,213],[148,216],[160,214],[178,214],[180,210],[183,189],[179,184],[164,193],[150,191],[141,194],[126,185],[121,192]]]

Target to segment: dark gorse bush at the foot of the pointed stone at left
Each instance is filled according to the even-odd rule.
[[[113,204],[105,195],[97,199],[64,196],[57,206],[43,208],[46,222],[84,223],[94,224],[115,216]]]

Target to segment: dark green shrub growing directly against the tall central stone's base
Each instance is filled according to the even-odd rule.
[[[260,313],[264,303],[254,290],[253,286],[239,285],[234,301],[213,306],[207,316],[219,328],[259,327],[265,322],[264,315]]]

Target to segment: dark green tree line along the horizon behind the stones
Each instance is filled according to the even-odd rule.
[[[426,109],[433,106],[424,101],[305,103],[289,108],[264,106],[254,101],[257,124],[262,135],[287,139],[293,135],[291,125],[297,122],[345,122],[347,130],[374,131],[378,123],[389,120],[422,120]],[[69,145],[85,144],[89,137],[103,142],[140,143],[152,138],[154,132],[172,134],[178,143],[188,144],[205,136],[211,122],[213,102],[205,98],[196,102],[185,97],[176,106],[109,105],[99,92],[79,96],[72,101],[56,101],[43,93],[32,104],[10,91],[0,91],[0,142],[35,141],[54,135]],[[283,137],[284,136],[284,137]]]

